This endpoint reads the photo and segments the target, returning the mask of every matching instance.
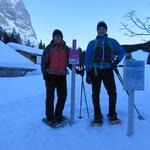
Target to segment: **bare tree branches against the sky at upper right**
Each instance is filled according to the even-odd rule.
[[[121,23],[123,28],[121,30],[126,30],[125,35],[129,37],[145,37],[150,36],[150,16],[141,19],[137,17],[136,11],[129,11],[124,18],[127,23]]]

